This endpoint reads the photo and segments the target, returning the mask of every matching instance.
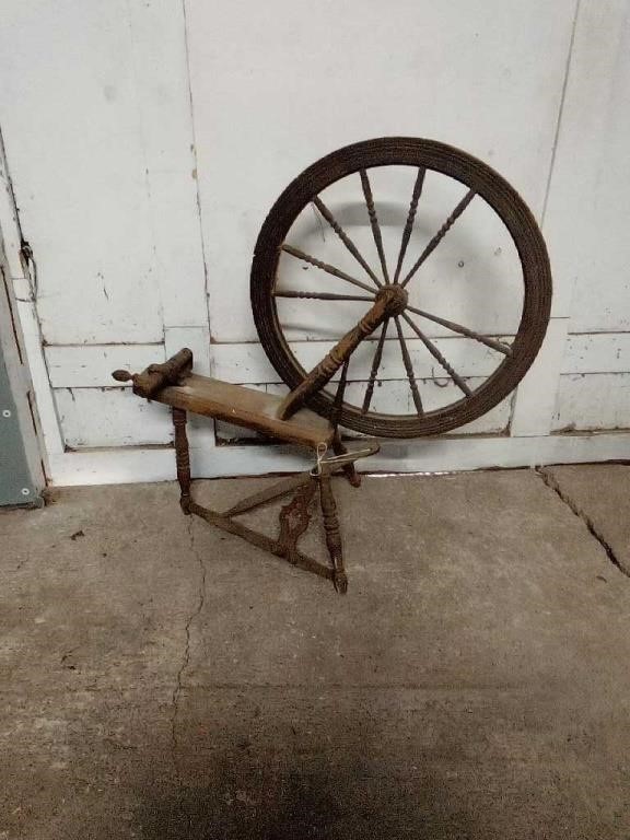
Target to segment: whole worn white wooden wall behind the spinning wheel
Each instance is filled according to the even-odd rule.
[[[502,172],[542,225],[556,293],[510,400],[468,434],[392,442],[374,466],[630,457],[629,16],[630,0],[7,3],[0,128],[36,288],[2,167],[0,228],[51,481],[173,477],[167,411],[113,387],[115,368],[189,346],[202,372],[278,387],[249,310],[258,229],[307,164],[386,135]],[[392,399],[407,398],[400,375],[385,371]],[[192,442],[198,475],[301,464],[218,446],[202,420]]]

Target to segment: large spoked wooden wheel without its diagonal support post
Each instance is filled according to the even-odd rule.
[[[380,224],[378,196],[372,182],[380,171],[405,167],[409,171],[408,205],[404,224],[395,231],[393,254],[386,255]],[[423,248],[410,257],[410,240],[418,219],[424,212],[423,192],[428,179],[443,178],[462,185],[462,197],[453,203],[448,213],[436,223],[424,238]],[[340,182],[352,185],[364,202],[365,225],[369,224],[374,241],[376,264],[370,265],[331,211],[325,198],[329,187]],[[462,225],[465,214],[475,203],[486,203],[497,214],[514,243],[521,269],[522,308],[518,324],[510,340],[457,323],[447,312],[448,301],[440,300],[436,311],[413,305],[410,294],[422,282],[422,271],[443,247],[448,232]],[[328,225],[350,256],[352,268],[346,269],[329,262],[317,253],[306,253],[292,242],[292,228],[305,208],[316,208],[324,224]],[[436,219],[440,219],[438,215]],[[334,232],[334,233],[332,233]],[[434,254],[435,253],[435,254]],[[282,268],[287,258],[307,267],[311,288],[293,290],[282,282]],[[337,290],[322,291],[319,277],[332,277]],[[549,320],[551,303],[551,273],[545,242],[534,217],[518,194],[493,170],[481,161],[443,143],[413,138],[384,138],[346,147],[323,158],[303,172],[282,192],[258,236],[252,268],[252,304],[262,347],[273,368],[290,388],[298,388],[305,380],[304,366],[293,352],[282,324],[280,302],[298,300],[304,306],[319,306],[312,312],[313,319],[326,319],[326,310],[341,301],[353,301],[363,316],[388,285],[398,287],[400,308],[385,317],[378,326],[378,340],[372,342],[372,364],[364,378],[360,400],[352,405],[345,401],[340,424],[366,434],[387,438],[412,438],[436,434],[470,422],[489,411],[518,384],[534,361]],[[492,290],[494,292],[495,290]],[[317,301],[317,303],[315,303]],[[361,308],[363,311],[361,312]],[[479,384],[470,385],[441,351],[439,342],[430,338],[430,328],[438,325],[452,336],[465,337],[472,345],[481,345],[494,358],[490,375]],[[405,336],[407,332],[407,338]],[[409,337],[419,339],[424,352],[443,376],[455,385],[454,399],[433,410],[423,402],[409,352]],[[399,345],[400,358],[412,397],[413,413],[384,413],[372,406],[386,339]],[[387,342],[389,343],[389,342]],[[418,343],[418,342],[416,342]],[[445,342],[443,342],[445,343]],[[308,397],[308,406],[329,417],[335,405],[334,395],[317,390]]]

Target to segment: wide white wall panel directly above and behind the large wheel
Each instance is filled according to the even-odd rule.
[[[186,0],[186,9],[215,340],[255,339],[258,229],[298,173],[345,143],[452,141],[540,213],[574,0],[399,0],[390,10],[354,0],[315,13],[305,0]]]

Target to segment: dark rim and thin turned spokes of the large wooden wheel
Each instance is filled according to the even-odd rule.
[[[381,240],[381,230],[378,228],[369,179],[369,171],[371,168],[392,165],[408,165],[418,170],[418,177],[411,196],[407,223],[402,232],[400,252],[393,276],[387,269]],[[413,268],[402,277],[402,258],[409,242],[418,202],[421,198],[423,175],[427,171],[436,171],[447,177],[460,182],[468,187],[468,192],[445,220],[440,231],[430,241],[419,259],[416,260]],[[363,268],[368,275],[366,282],[364,283],[362,281],[357,281],[355,278],[335,269],[332,266],[328,266],[317,258],[303,254],[300,249],[285,242],[293,222],[310,202],[315,203],[326,221],[343,241],[343,237],[346,236],[345,232],[339,225],[336,226],[336,220],[319,199],[319,194],[326,187],[353,173],[359,173],[361,177],[369,221],[374,234],[381,264],[380,267],[383,272],[382,278],[380,278],[372,267],[364,264],[365,261],[360,254],[353,254],[358,261],[362,262],[362,265],[364,264]],[[427,259],[432,250],[438,247],[450,228],[465,211],[475,195],[479,195],[483,198],[502,220],[516,246],[523,269],[523,312],[515,339],[510,348],[502,346],[501,342],[495,341],[492,338],[479,335],[474,330],[468,330],[469,337],[475,338],[481,343],[493,347],[493,349],[501,349],[502,347],[503,349],[501,349],[501,352],[504,353],[502,363],[479,388],[470,390],[465,380],[451,368],[433,341],[425,336],[424,331],[410,318],[408,313],[412,313],[420,317],[429,316],[430,320],[442,324],[442,326],[445,326],[447,329],[452,329],[462,335],[467,335],[467,328],[462,327],[462,325],[453,324],[453,322],[445,318],[424,313],[417,307],[407,306],[399,314],[383,322],[381,336],[378,337],[377,342],[374,342],[375,353],[373,368],[362,408],[365,408],[365,405],[368,405],[369,409],[371,398],[370,392],[373,390],[374,387],[374,381],[383,353],[385,334],[390,331],[394,335],[395,330],[395,332],[398,334],[398,339],[400,341],[404,364],[418,415],[383,415],[370,410],[363,411],[360,408],[350,406],[346,402],[339,412],[338,408],[336,409],[335,407],[334,397],[323,390],[318,390],[308,396],[307,405],[312,409],[326,417],[330,417],[335,412],[340,413],[339,422],[341,425],[366,434],[389,438],[412,438],[418,435],[438,434],[471,422],[504,399],[504,397],[506,397],[518,384],[536,358],[549,320],[551,305],[551,275],[547,250],[540,231],[527,206],[514,188],[487,164],[458,149],[436,141],[416,138],[382,138],[354,143],[353,145],[332,152],[314,163],[295,178],[295,180],[293,180],[282,192],[269,212],[256,243],[252,266],[250,295],[254,318],[262,347],[265,348],[271,364],[291,389],[302,385],[307,374],[291,352],[283,335],[276,306],[275,284],[281,252],[285,250],[299,259],[312,262],[318,268],[324,267],[324,270],[328,271],[328,273],[335,273],[342,280],[353,282],[354,285],[359,285],[363,291],[370,292],[372,298],[368,298],[366,300],[373,302],[375,295],[381,292],[387,283],[399,283],[401,287],[405,287],[411,280],[424,259]],[[348,240],[348,242],[343,241],[343,244],[352,253],[353,244],[349,237],[346,236],[346,240]],[[358,291],[359,290],[357,289],[352,290],[353,293]],[[310,296],[310,294],[305,292],[295,292],[293,295],[290,292],[282,292],[281,294],[282,296]],[[318,296],[329,300],[335,300],[337,298],[335,293],[319,293]],[[352,298],[350,295],[339,295],[339,298],[345,300],[365,300],[365,295],[359,293],[355,295],[353,294]],[[393,320],[394,324],[390,325],[389,320]],[[418,393],[416,378],[413,376],[411,360],[402,336],[401,322],[405,322],[415,331],[417,337],[425,346],[427,350],[436,359],[439,364],[447,372],[448,376],[464,393],[462,399],[445,408],[424,412],[421,396]],[[455,327],[455,329],[453,329],[453,327]],[[369,393],[370,398],[368,396]]]

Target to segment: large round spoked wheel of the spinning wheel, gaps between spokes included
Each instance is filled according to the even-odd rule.
[[[510,249],[509,267],[489,258]],[[466,261],[472,268],[462,281],[456,267]],[[343,376],[354,382],[342,406],[331,381],[306,399],[317,413],[337,410],[341,425],[366,434],[436,434],[479,418],[527,372],[549,320],[549,260],[527,206],[490,166],[431,140],[383,138],[340,149],[305,170],[272,207],[256,243],[250,295],[260,341],[283,382],[292,390],[303,385],[310,363],[299,349],[336,342],[388,287],[397,287],[388,291],[398,305],[346,360]],[[511,325],[489,316],[501,301]],[[452,348],[465,364],[482,352],[474,375],[448,358]],[[423,371],[430,363],[430,376],[416,370],[418,360]],[[383,365],[395,363],[408,400],[393,411],[387,400],[375,405],[375,392]],[[444,388],[438,405],[423,393],[429,381]]]

